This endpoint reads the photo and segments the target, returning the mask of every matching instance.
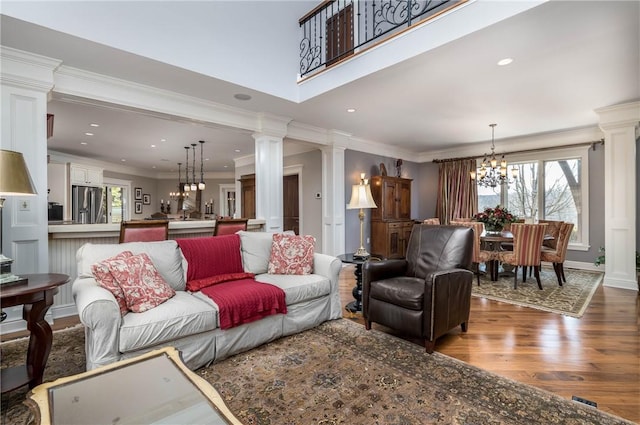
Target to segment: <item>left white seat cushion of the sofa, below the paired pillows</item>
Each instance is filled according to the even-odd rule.
[[[213,303],[179,291],[167,302],[122,319],[119,348],[123,353],[152,347],[218,327]]]

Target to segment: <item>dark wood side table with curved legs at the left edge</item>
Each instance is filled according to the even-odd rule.
[[[27,363],[2,370],[2,393],[29,384],[34,388],[42,383],[42,375],[51,351],[51,326],[44,316],[53,304],[58,287],[69,281],[69,276],[56,273],[21,275],[26,283],[9,283],[0,286],[2,308],[24,304],[22,318],[27,321],[29,348]]]

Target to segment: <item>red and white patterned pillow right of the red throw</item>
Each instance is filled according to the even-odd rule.
[[[296,236],[276,233],[271,244],[270,274],[313,273],[313,236]]]

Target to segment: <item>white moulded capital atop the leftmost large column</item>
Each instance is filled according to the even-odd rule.
[[[54,86],[54,72],[59,60],[0,46],[0,83],[39,92],[49,92]]]

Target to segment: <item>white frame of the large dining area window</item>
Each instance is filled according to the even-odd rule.
[[[568,249],[573,251],[588,251],[591,248],[589,243],[589,145],[580,145],[575,147],[549,149],[542,151],[522,152],[507,154],[507,168],[510,168],[514,164],[538,162],[538,193],[544,193],[545,187],[545,161],[560,161],[563,159],[579,159],[580,160],[580,195],[581,204],[578,206],[581,208],[582,222],[576,223],[578,231],[580,232],[579,242],[569,242]],[[479,163],[482,159],[476,161],[476,168],[479,168]],[[510,175],[510,174],[509,174]],[[507,205],[507,191],[503,190],[504,186],[500,187],[500,204]],[[544,196],[538,197],[538,211],[544,211]],[[542,217],[539,217],[542,219]]]

